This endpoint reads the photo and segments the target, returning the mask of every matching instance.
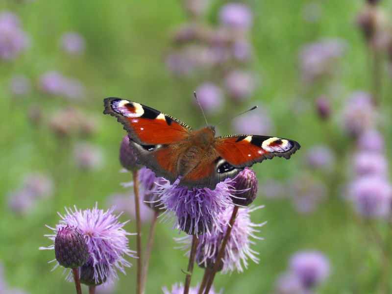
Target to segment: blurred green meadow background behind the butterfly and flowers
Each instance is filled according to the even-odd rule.
[[[225,1],[211,1],[205,22],[218,24],[218,12]],[[216,124],[229,116],[245,111],[255,104],[263,105],[274,123],[273,133],[262,134],[293,139],[301,149],[289,160],[281,158],[255,165],[260,182],[256,205],[266,207],[252,215],[252,221],[268,223],[260,228],[259,237],[251,248],[260,252],[259,264],[250,263],[243,273],[217,275],[216,289],[223,293],[274,293],[279,273],[288,269],[289,259],[299,250],[323,252],[331,264],[331,273],[317,293],[391,293],[391,238],[386,221],[366,221],[353,212],[344,199],[343,187],[350,179],[350,152],[353,140],[340,127],[339,114],[343,101],[353,90],[372,91],[372,70],[369,68],[368,47],[355,19],[365,7],[364,0],[274,0],[245,1],[253,13],[250,41],[253,58],[245,68],[257,73],[259,86],[243,103],[227,99],[222,110],[208,115]],[[307,20],[307,5],[318,7],[316,20]],[[73,293],[74,285],[61,276],[62,270],[50,271],[54,252],[40,251],[49,246],[44,234],[51,231],[64,214],[64,206],[86,209],[95,206],[107,209],[107,197],[113,193],[129,193],[120,183],[131,181],[130,173],[120,173],[118,160],[120,142],[125,135],[122,126],[109,116],[103,116],[103,98],[121,97],[134,100],[189,124],[204,126],[200,111],[195,108],[192,93],[206,81],[215,78],[214,71],[176,77],[165,64],[166,56],[175,49],[173,32],[189,16],[181,1],[74,1],[74,0],[7,0],[0,10],[15,13],[21,27],[30,36],[29,47],[12,60],[0,60],[0,199],[1,241],[0,261],[9,287],[31,294]],[[391,2],[381,3],[390,14]],[[312,13],[312,12],[309,12]],[[80,33],[86,42],[84,54],[69,56],[59,45],[67,31]],[[299,51],[308,42],[323,38],[341,38],[347,44],[345,54],[336,64],[336,73],[326,79],[309,83],[300,72]],[[382,56],[383,58],[384,56]],[[386,144],[391,142],[391,76],[382,63],[380,113],[384,123]],[[67,77],[77,78],[84,85],[80,99],[48,95],[40,90],[40,76],[55,70]],[[24,74],[31,90],[24,97],[15,97],[10,90],[14,74]],[[320,120],[314,106],[315,98],[326,94],[331,99],[332,117]],[[92,132],[59,135],[50,120],[64,107],[72,106],[82,113]],[[39,119],[35,119],[37,114]],[[61,121],[60,121],[61,123]],[[69,123],[64,119],[64,124]],[[231,134],[231,123],[220,125],[221,134]],[[88,142],[99,148],[99,164],[94,169],[80,169],[74,160],[74,147]],[[331,147],[336,164],[331,172],[309,170],[304,164],[306,151],[317,144]],[[387,153],[390,153],[387,148]],[[26,174],[42,172],[53,180],[49,198],[37,200],[27,213],[10,209],[12,191],[23,185]],[[282,199],[264,196],[269,179],[289,181],[310,175],[323,181],[327,196],[310,213],[298,212],[290,195]],[[299,181],[299,180],[298,180]],[[290,194],[290,190],[285,194]],[[121,220],[130,217],[123,215]],[[125,229],[135,231],[130,221]],[[146,242],[148,224],[143,227]],[[373,233],[382,239],[373,238]],[[181,269],[187,258],[176,246],[168,224],[160,223],[149,267],[147,293],[162,293],[161,287],[183,281]],[[135,249],[136,238],[130,236]],[[389,259],[389,260],[388,260]],[[387,260],[387,262],[385,262]],[[135,265],[136,260],[131,260]],[[113,293],[134,293],[136,267],[119,273]],[[202,277],[195,269],[192,285]],[[87,292],[87,289],[83,289]]]

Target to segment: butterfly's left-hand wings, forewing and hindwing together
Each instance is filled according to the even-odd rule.
[[[117,117],[128,132],[138,163],[170,182],[178,177],[176,158],[194,131],[179,120],[146,105],[121,98],[105,98],[104,114]]]

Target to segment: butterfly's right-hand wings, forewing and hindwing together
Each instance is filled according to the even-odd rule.
[[[272,157],[289,159],[300,145],[289,139],[232,135],[216,138],[214,146],[201,159],[199,165],[181,178],[180,185],[215,189],[217,183]]]

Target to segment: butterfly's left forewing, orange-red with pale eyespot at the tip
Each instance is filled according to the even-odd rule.
[[[131,140],[140,145],[170,144],[184,140],[193,129],[171,116],[140,103],[104,99],[104,114],[117,117]]]

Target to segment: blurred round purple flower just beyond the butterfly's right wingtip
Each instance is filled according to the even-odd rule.
[[[310,168],[330,171],[335,163],[335,155],[330,147],[316,145],[308,149],[306,163]]]

